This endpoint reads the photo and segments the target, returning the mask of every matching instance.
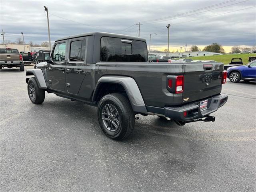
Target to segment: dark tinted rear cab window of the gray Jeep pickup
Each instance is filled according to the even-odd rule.
[[[146,42],[114,37],[100,40],[100,61],[102,62],[147,62]]]

